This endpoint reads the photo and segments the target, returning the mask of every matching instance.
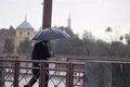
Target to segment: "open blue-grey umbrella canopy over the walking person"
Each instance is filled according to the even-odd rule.
[[[30,40],[51,40],[51,39],[62,39],[68,38],[69,35],[57,28],[46,28],[38,30]]]

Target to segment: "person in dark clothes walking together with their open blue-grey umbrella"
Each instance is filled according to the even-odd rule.
[[[31,53],[32,60],[48,60],[48,58],[51,57],[49,50],[49,40],[62,39],[68,37],[69,35],[66,32],[63,32],[57,28],[39,29],[34,36],[30,37],[30,40],[41,40],[40,42],[37,42],[34,47]],[[34,63],[32,66],[40,67],[38,63]],[[48,67],[49,65],[46,64],[46,66]],[[49,73],[49,71],[46,72]],[[32,87],[32,85],[37,82],[37,79],[40,76],[40,70],[34,69],[32,74],[34,74],[32,78],[24,87]],[[46,87],[48,87],[49,76],[47,73],[46,73],[46,80],[47,80]]]

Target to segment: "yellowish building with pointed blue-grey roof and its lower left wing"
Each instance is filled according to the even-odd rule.
[[[16,29],[13,26],[9,28],[0,29],[0,52],[4,50],[5,39],[11,39],[14,42],[14,53],[17,52],[17,48],[22,41],[26,38],[30,38],[35,33],[34,27],[26,21],[22,22]]]

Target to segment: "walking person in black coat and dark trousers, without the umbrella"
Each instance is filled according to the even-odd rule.
[[[40,42],[35,44],[34,50],[31,52],[31,60],[48,60],[48,58],[50,58],[50,50],[49,50],[49,41],[48,40],[42,40]],[[39,63],[32,63],[34,67],[40,67]],[[46,64],[46,67],[48,67],[49,65]],[[49,71],[46,70],[46,87],[48,87],[48,80],[49,80],[49,75],[48,75]],[[40,76],[40,69],[32,69],[32,74],[34,76],[31,77],[31,79],[29,80],[29,83],[27,85],[25,85],[24,87],[32,87],[34,84],[37,82],[37,79]]]

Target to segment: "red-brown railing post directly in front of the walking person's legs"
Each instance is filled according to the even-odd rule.
[[[44,86],[46,86],[46,64],[44,61],[42,61],[40,66],[39,87],[44,87]]]

